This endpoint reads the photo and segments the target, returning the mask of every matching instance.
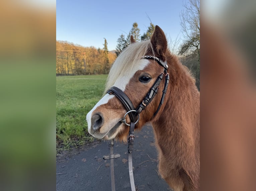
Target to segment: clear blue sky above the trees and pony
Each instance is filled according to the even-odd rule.
[[[103,48],[107,39],[109,51],[115,50],[117,39],[138,23],[140,34],[150,24],[165,32],[167,40],[182,38],[180,12],[184,0],[56,0],[56,40],[82,46]]]

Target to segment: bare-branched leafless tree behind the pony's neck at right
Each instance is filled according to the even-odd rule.
[[[196,75],[196,85],[200,90],[200,0],[188,0],[185,9],[180,14],[180,25],[184,42],[180,46],[179,55],[197,54],[198,65],[193,71]]]

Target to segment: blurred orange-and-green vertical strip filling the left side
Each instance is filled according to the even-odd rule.
[[[55,189],[55,2],[0,3],[0,189]]]

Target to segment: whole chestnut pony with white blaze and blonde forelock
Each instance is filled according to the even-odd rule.
[[[145,104],[144,97],[159,79],[159,74],[165,79],[169,77],[168,88],[166,83],[156,87],[165,98],[156,93]],[[125,123],[120,122],[127,109],[116,95],[109,93],[113,86],[127,95],[137,108],[146,105],[142,106],[135,130],[151,123],[159,173],[170,188],[174,191],[200,190],[200,92],[189,70],[171,54],[159,26],[155,26],[150,40],[135,42],[131,36],[130,45],[119,54],[110,69],[106,94],[86,117],[88,131],[95,138],[126,142],[129,133],[126,124],[132,122],[132,115],[126,117]],[[136,117],[136,113],[134,115]]]

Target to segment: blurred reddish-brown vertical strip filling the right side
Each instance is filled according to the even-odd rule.
[[[256,190],[255,1],[207,2],[201,15],[201,189]]]

